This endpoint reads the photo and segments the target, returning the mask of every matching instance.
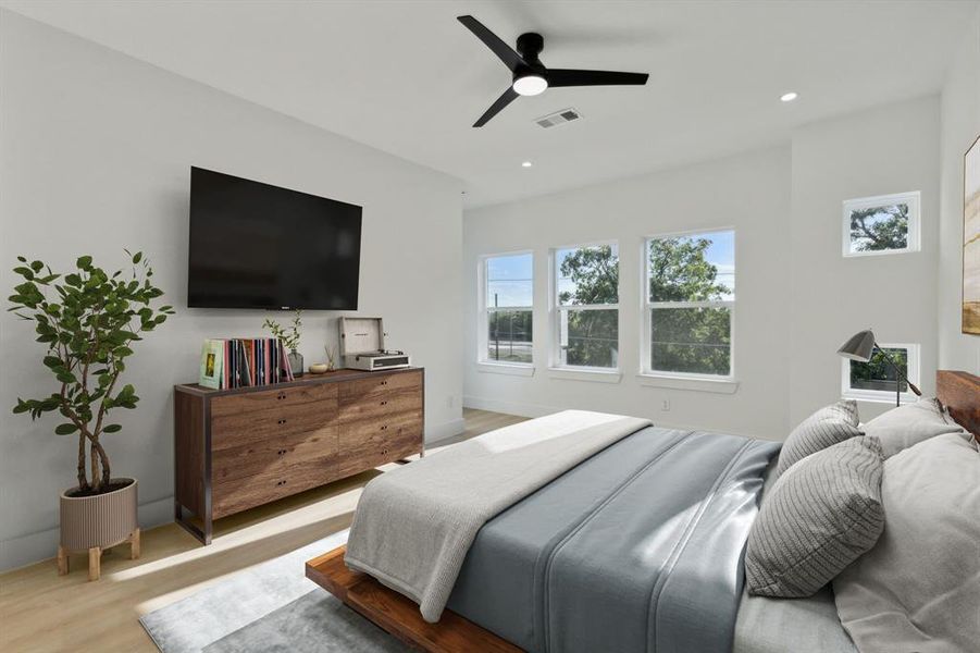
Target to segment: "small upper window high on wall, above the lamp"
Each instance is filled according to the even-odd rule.
[[[844,201],[844,256],[918,250],[918,190]]]

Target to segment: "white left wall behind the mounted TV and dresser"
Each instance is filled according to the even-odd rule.
[[[113,267],[128,247],[177,308],[138,343],[125,378],[141,402],[107,439],[113,472],[140,481],[142,526],[172,516],[172,385],[196,379],[202,338],[258,334],[265,315],[185,308],[191,164],[362,205],[359,313],[384,316],[390,345],[426,367],[427,436],[461,430],[456,180],[8,11],[0,44],[0,286],[15,283],[18,254]],[[336,344],[336,315],[306,317],[307,362]],[[57,419],[10,414],[17,396],[54,390],[33,341],[0,313],[0,568],[53,555],[58,492],[74,481],[74,440],[53,435]]]

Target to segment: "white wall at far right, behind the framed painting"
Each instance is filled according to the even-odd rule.
[[[980,10],[963,37],[942,93],[939,362],[980,374],[980,336],[960,329],[963,156],[980,136]]]

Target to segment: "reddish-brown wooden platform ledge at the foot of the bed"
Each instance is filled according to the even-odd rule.
[[[438,624],[422,618],[419,606],[367,574],[344,564],[347,546],[307,562],[307,578],[375,626],[409,646],[429,653],[518,653],[521,649],[451,611]]]

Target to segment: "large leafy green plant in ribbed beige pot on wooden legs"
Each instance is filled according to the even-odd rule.
[[[64,275],[17,257],[14,273],[23,282],[10,296],[10,310],[34,323],[35,340],[45,347],[44,366],[58,382],[48,396],[18,397],[13,411],[33,419],[58,412],[62,423],[54,433],[77,438],[78,484],[60,497],[58,570],[67,574],[67,554],[87,552],[89,580],[99,578],[104,549],[128,541],[132,557],[139,556],[136,479],[112,477],[101,436],[122,430],[110,423],[111,411],[135,408],[139,401],[132,385],[117,386],[131,347],[174,312],[170,306],[150,306],[163,295],[151,282],[153,270],[141,252],[126,255],[132,274],[108,273],[90,256],[79,257],[76,269]]]

